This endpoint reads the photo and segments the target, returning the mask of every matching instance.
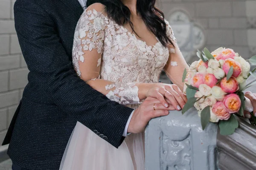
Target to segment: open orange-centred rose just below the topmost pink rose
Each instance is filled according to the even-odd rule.
[[[239,62],[235,61],[234,59],[231,59],[231,58],[230,59],[226,59],[224,61],[223,70],[226,73],[226,75],[227,75],[227,73],[228,73],[228,71],[229,71],[231,66],[233,66],[233,74],[232,74],[232,76],[239,77],[239,75],[242,72],[241,64]]]

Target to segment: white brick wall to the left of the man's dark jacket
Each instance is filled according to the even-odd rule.
[[[0,144],[15,113],[28,69],[14,26],[15,0],[0,0]]]

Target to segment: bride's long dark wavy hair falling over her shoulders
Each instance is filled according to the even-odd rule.
[[[147,28],[158,38],[163,46],[174,46],[166,34],[164,14],[154,6],[155,2],[156,0],[137,0],[137,13],[142,17]],[[86,6],[90,6],[93,3],[102,3],[105,5],[105,11],[108,17],[111,17],[117,24],[122,26],[129,23],[132,31],[134,31],[133,23],[130,20],[131,11],[121,0],[87,0]],[[134,33],[136,34],[135,31]]]

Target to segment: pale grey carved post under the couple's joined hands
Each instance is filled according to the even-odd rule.
[[[197,111],[170,111],[145,131],[146,170],[216,170],[217,125],[203,131]]]

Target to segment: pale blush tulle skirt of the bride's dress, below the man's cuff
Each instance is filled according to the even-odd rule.
[[[60,170],[144,170],[144,133],[130,134],[117,149],[77,122]]]

